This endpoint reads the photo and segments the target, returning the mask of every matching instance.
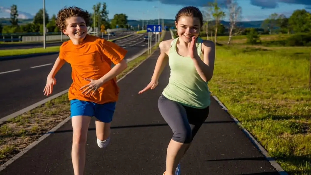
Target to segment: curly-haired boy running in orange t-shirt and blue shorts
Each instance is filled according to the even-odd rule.
[[[44,95],[52,93],[54,78],[65,62],[71,64],[72,80],[68,92],[73,128],[72,165],[75,175],[82,175],[89,123],[95,116],[97,144],[109,143],[110,123],[118,100],[116,76],[127,67],[126,50],[96,36],[87,34],[90,17],[78,7],[63,8],[56,21],[70,40],[63,42],[59,56],[48,75]],[[111,63],[115,66],[111,69]]]

